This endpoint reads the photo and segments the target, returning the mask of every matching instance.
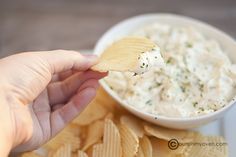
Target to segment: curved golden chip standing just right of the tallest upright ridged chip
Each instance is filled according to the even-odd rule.
[[[126,125],[120,127],[122,154],[125,157],[134,157],[138,153],[138,136]]]

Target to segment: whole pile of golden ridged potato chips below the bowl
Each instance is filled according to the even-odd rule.
[[[145,122],[120,107],[103,89],[82,114],[40,150],[22,157],[228,156],[222,137]]]

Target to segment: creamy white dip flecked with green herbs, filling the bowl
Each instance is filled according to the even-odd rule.
[[[192,27],[159,23],[132,35],[157,43],[166,64],[147,68],[146,73],[137,76],[130,72],[109,73],[106,83],[129,105],[156,115],[192,117],[214,112],[235,97],[236,65],[216,40]],[[153,59],[151,54],[145,55]]]

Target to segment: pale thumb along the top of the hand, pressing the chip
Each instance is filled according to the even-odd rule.
[[[55,50],[36,53],[47,62],[51,74],[70,69],[85,71],[97,63],[97,57],[95,55],[87,55],[85,57],[76,51]]]

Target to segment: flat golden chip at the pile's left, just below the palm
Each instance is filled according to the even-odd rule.
[[[70,143],[72,146],[72,151],[77,151],[80,148],[81,140],[79,138],[79,127],[77,128],[75,125],[68,125],[65,129],[63,129],[59,134],[57,134],[53,139],[47,142],[44,145],[46,149],[57,149],[65,143]]]

